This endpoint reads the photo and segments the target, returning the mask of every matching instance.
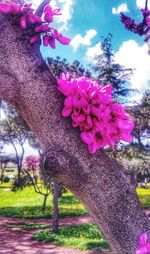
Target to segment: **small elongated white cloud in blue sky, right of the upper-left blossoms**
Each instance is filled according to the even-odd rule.
[[[94,29],[90,29],[86,31],[86,35],[82,36],[81,34],[77,34],[71,41],[70,45],[73,47],[74,51],[82,46],[90,46],[91,40],[97,35],[97,31]]]

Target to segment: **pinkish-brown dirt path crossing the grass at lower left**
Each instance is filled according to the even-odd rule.
[[[51,243],[41,243],[32,240],[32,231],[22,231],[16,228],[9,228],[9,223],[32,222],[50,223],[48,219],[23,220],[17,218],[0,217],[0,254],[110,254],[110,252],[79,251],[70,248],[59,247]],[[60,225],[79,225],[91,223],[89,216],[81,216],[67,219],[60,219]]]

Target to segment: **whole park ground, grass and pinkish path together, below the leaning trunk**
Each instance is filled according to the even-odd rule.
[[[150,214],[150,189],[137,189],[141,203]],[[70,193],[59,200],[60,230],[49,233],[52,217],[52,196],[45,212],[42,197],[32,187],[12,192],[0,186],[0,253],[36,254],[108,254],[109,247],[92,224],[84,207]],[[38,241],[37,241],[38,240]]]

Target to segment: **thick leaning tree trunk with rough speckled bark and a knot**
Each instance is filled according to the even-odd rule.
[[[61,117],[63,96],[41,58],[12,17],[0,16],[0,97],[21,113],[44,154],[50,177],[88,209],[115,254],[133,254],[148,218],[123,168],[103,151],[89,154],[78,129]]]

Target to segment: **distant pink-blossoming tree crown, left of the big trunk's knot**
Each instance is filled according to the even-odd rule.
[[[35,171],[39,168],[39,157],[38,156],[28,156],[25,159],[24,167],[26,170]]]

